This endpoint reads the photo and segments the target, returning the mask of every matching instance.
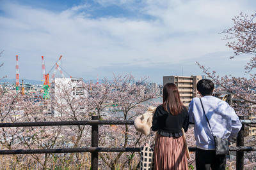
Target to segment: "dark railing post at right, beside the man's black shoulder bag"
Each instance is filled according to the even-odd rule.
[[[244,116],[238,116],[240,120],[244,119]],[[244,146],[244,125],[242,124],[242,128],[237,134],[236,138],[236,146]],[[243,170],[244,169],[244,152],[237,151],[236,152],[236,169]]]

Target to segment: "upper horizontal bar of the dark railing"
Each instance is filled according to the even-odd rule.
[[[241,120],[242,124],[256,124],[255,120]],[[81,120],[61,122],[17,122],[1,123],[0,127],[32,127],[32,126],[54,126],[54,125],[133,125],[134,120]],[[191,123],[189,123],[191,124]]]

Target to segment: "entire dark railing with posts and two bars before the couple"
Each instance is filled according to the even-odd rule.
[[[242,170],[244,167],[244,152],[256,151],[256,147],[244,146],[244,125],[256,124],[256,121],[243,120],[239,117],[243,126],[237,135],[236,147],[230,146],[230,151],[236,152],[236,169]],[[92,125],[92,147],[88,148],[56,148],[56,149],[35,149],[35,150],[0,150],[0,155],[15,154],[37,154],[37,153],[79,153],[90,152],[92,170],[98,169],[98,152],[140,152],[140,148],[99,148],[99,125],[133,125],[133,120],[99,120],[99,116],[92,116],[92,120],[83,121],[62,121],[62,122],[20,122],[1,123],[0,127],[35,127],[35,126],[55,126],[55,125]],[[189,148],[190,152],[195,152],[196,148]]]

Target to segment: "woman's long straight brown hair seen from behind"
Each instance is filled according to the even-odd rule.
[[[182,111],[183,104],[180,101],[178,87],[173,83],[167,83],[163,89],[163,108],[172,115],[178,115]]]

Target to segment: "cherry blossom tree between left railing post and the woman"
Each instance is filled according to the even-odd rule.
[[[136,80],[131,74],[114,75],[113,83],[111,84],[111,91],[109,92],[108,101],[114,104],[115,116],[109,117],[118,120],[133,120],[134,117],[141,115],[147,110],[147,106],[152,105],[150,99],[156,97],[156,93],[145,92],[144,83],[147,78]],[[156,104],[155,104],[156,106]],[[104,125],[104,131],[100,131],[100,136],[109,136],[109,139],[103,138],[100,145],[105,147],[138,147],[141,146],[145,139],[144,136],[138,134],[133,125]],[[100,137],[100,139],[102,139]],[[151,138],[152,141],[154,138]],[[145,140],[144,140],[145,141]],[[111,169],[120,167],[129,167],[129,169],[136,169],[138,164],[138,157],[135,153],[124,154],[120,153],[99,153],[103,162]],[[134,162],[135,161],[135,162]]]

